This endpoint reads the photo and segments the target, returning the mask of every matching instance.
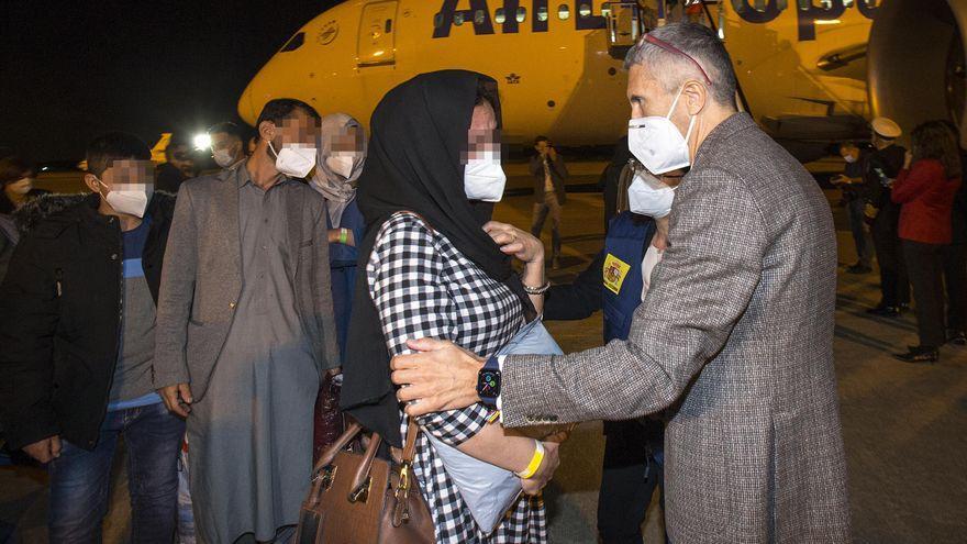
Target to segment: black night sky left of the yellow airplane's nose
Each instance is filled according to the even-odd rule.
[[[111,130],[154,145],[162,132],[241,122],[235,106],[248,80],[336,3],[4,2],[0,147],[78,160]]]

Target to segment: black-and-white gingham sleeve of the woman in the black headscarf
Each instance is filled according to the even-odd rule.
[[[407,340],[455,341],[459,322],[443,280],[447,252],[419,218],[399,213],[380,227],[366,276],[391,355],[413,353]],[[475,404],[419,419],[434,436],[457,446],[480,432],[489,410]]]

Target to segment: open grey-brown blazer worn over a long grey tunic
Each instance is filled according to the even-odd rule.
[[[181,184],[168,234],[155,329],[156,388],[191,384],[204,396],[242,292],[238,176],[245,163]],[[325,203],[305,184],[285,190],[297,310],[319,370],[338,366]]]

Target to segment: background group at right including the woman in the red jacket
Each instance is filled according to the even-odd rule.
[[[877,118],[871,127],[869,149],[853,142],[840,146],[846,167],[833,180],[843,187],[858,257],[848,271],[871,273],[876,254],[881,298],[868,310],[874,315],[908,311],[912,288],[920,342],[894,356],[936,363],[947,342],[967,345],[967,188],[959,132],[952,123],[927,121],[913,129],[908,151],[897,143],[903,131],[891,119]]]

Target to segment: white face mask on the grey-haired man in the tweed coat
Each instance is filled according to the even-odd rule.
[[[635,118],[627,123],[627,147],[652,174],[662,175],[691,164],[688,142],[696,116],[692,115],[688,122],[688,133],[685,136],[670,119],[682,90],[683,88],[679,89],[678,96],[671,102],[671,109],[664,118]]]

